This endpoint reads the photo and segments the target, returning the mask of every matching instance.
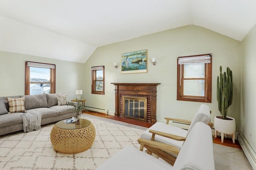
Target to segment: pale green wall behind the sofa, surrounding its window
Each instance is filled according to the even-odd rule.
[[[24,95],[25,61],[56,64],[56,93],[67,93],[68,100],[83,89],[82,63],[0,51],[0,96]]]

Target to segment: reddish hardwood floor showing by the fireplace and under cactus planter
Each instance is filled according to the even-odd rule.
[[[116,116],[107,115],[107,114],[100,113],[100,112],[94,112],[94,111],[91,111],[91,110],[88,110],[87,112],[84,112],[84,113],[85,114],[94,115],[94,116],[99,116],[99,117],[102,117],[102,118],[108,118],[108,119],[112,119],[112,120],[117,120],[117,121],[120,121],[120,122],[126,122],[126,123],[129,123],[129,124],[134,124],[134,125],[142,126],[142,127],[145,127],[145,128],[150,128],[152,126],[152,124],[147,123],[147,122],[142,122],[140,120],[116,117]],[[236,140],[235,143],[233,144],[231,138],[224,138],[224,143],[221,143],[220,136],[217,136],[217,138],[215,138],[215,140],[213,142],[216,143],[216,144],[221,144],[221,145],[225,145],[225,146],[231,146],[231,147],[234,147],[234,148],[241,148],[238,140]]]

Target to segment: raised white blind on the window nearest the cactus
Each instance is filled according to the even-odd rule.
[[[205,56],[178,57],[178,64],[210,63],[211,54]]]

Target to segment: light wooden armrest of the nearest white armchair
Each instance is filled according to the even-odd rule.
[[[168,162],[171,165],[174,165],[174,162],[176,160],[176,156],[180,152],[180,149],[176,148],[175,146],[164,144],[161,142],[151,141],[139,138],[138,142],[140,144],[140,150],[143,151],[143,148],[146,148],[148,150],[148,154],[156,154],[166,162]]]

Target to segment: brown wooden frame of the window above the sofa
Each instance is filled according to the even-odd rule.
[[[44,67],[44,65],[50,65],[54,66],[54,68],[50,68],[50,82],[30,82],[30,66],[28,63],[32,63],[35,65],[38,65],[38,67],[41,68],[48,68]],[[33,66],[37,67],[37,66]],[[51,90],[50,93],[54,94],[56,93],[56,65],[55,64],[48,64],[48,63],[42,63],[42,62],[31,62],[31,61],[25,61],[25,95],[30,95],[30,84],[50,84]]]

